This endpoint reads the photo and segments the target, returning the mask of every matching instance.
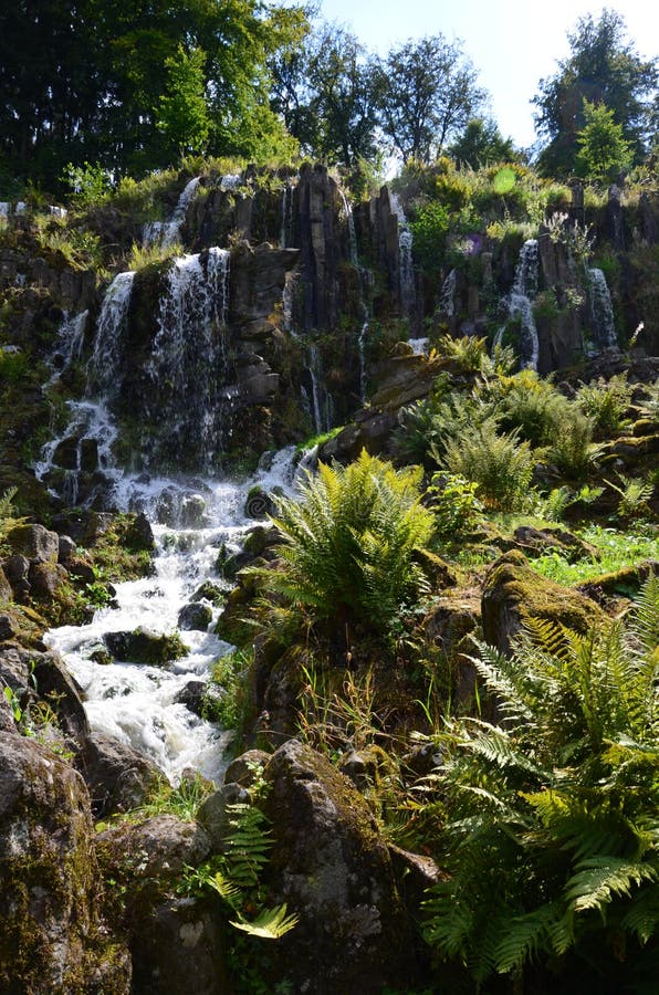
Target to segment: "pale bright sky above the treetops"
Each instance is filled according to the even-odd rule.
[[[380,54],[410,38],[441,32],[461,39],[491,96],[491,112],[505,137],[526,147],[535,138],[531,98],[538,81],[556,71],[568,52],[566,33],[579,17],[603,7],[625,19],[628,38],[644,57],[659,54],[657,0],[606,4],[580,0],[320,0],[321,17],[347,24]]]

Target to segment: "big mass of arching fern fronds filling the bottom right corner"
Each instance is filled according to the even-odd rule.
[[[625,625],[531,621],[512,659],[480,645],[501,721],[440,737],[450,877],[426,903],[429,942],[477,985],[540,964],[630,991],[656,968],[658,633],[655,578]]]

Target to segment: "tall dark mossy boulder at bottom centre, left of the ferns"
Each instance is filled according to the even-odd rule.
[[[269,886],[300,915],[279,941],[282,975],[314,995],[409,989],[416,951],[387,846],[367,803],[292,740],[265,767],[274,846]]]

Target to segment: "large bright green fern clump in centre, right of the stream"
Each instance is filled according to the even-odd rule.
[[[365,450],[347,467],[320,463],[300,501],[278,498],[283,569],[268,572],[269,588],[316,619],[386,631],[425,585],[414,554],[433,520],[420,479],[420,470],[395,470]]]

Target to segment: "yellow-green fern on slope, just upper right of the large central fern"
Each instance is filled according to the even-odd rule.
[[[488,419],[469,427],[460,438],[446,444],[442,460],[451,473],[477,483],[485,507],[500,511],[523,509],[530,498],[534,459],[519,432],[499,433]]]

